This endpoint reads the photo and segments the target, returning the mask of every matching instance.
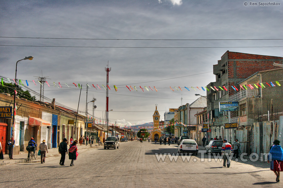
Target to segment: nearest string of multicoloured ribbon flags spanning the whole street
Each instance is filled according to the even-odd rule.
[[[1,84],[4,86],[4,80],[5,78],[1,78]],[[19,80],[18,81],[18,83],[17,83],[17,81],[15,81],[15,79],[12,79],[13,81],[14,81],[14,83],[16,84],[16,85],[22,85],[22,86],[25,86],[24,84],[23,84],[23,81],[22,80]],[[11,82],[11,79],[9,79],[9,78],[6,78],[6,81],[8,81],[8,82],[10,82],[10,83],[12,83]],[[241,89],[243,89],[243,90],[247,90],[247,89],[258,89],[258,88],[266,88],[266,87],[275,87],[275,86],[281,86],[281,84],[279,83],[280,81],[283,81],[283,80],[278,80],[278,81],[269,81],[269,82],[263,82],[263,83],[254,83],[254,84],[246,84],[246,85],[239,85],[239,86],[195,86],[195,87],[193,87],[193,86],[191,86],[191,87],[186,87],[186,86],[184,86],[183,88],[185,88],[186,90],[188,90],[188,91],[191,91],[192,89],[194,90],[194,91],[197,91],[197,89],[198,90],[200,90],[200,91],[210,91],[210,90],[213,90],[213,91],[221,91],[221,90],[225,90],[225,91],[228,91],[228,89],[229,89],[229,87],[230,88],[232,88],[234,91],[238,91],[240,88]],[[28,80],[25,80],[25,83],[26,83],[26,86],[29,86],[30,84],[29,84],[29,82],[31,82],[31,83],[34,83],[35,85],[36,85],[36,82],[33,80],[33,81],[28,81]],[[47,86],[48,87],[51,87],[50,85],[49,85],[49,83],[47,82],[47,81],[45,81],[43,84],[40,82],[40,81],[37,81],[39,84],[41,84],[41,85],[43,85],[43,84],[47,84]],[[75,83],[75,82],[73,82],[72,83],[73,84],[73,86],[75,86],[75,87],[78,87],[78,88],[82,88],[83,87],[83,84],[80,84],[80,83]],[[59,87],[59,86],[60,87]],[[58,82],[58,85],[55,83],[55,82],[53,82],[53,86],[55,87],[58,87],[58,88],[62,88],[62,86],[61,86],[61,84],[60,84],[60,82]],[[65,85],[68,87],[68,88],[70,88],[70,86],[71,86],[71,84],[67,84],[67,83],[65,83]],[[101,90],[101,87],[97,84],[96,86],[94,85],[94,84],[92,84],[92,86],[90,86],[89,84],[86,84],[85,85],[88,89],[90,89],[90,88],[94,88],[94,89],[99,89],[99,90]],[[105,91],[107,90],[107,88],[109,89],[109,90],[111,90],[111,88],[110,88],[110,86],[108,86],[108,85],[106,85],[106,86],[104,86],[104,85],[101,85],[104,89],[105,89]],[[112,87],[112,86],[111,86]],[[114,88],[115,89],[115,91],[118,91],[118,87],[116,86],[116,85],[114,85],[112,88]],[[119,88],[122,88],[122,87],[119,87]],[[137,86],[126,86],[126,88],[128,88],[130,91],[138,91],[138,88],[137,88]],[[156,91],[156,92],[158,92],[158,90],[157,90],[157,88],[155,87],[155,86],[153,86],[153,88],[154,88],[154,90],[152,89],[152,87],[151,86],[139,86],[139,88],[141,89],[141,91],[142,92],[144,92],[145,90],[146,91]],[[148,89],[148,88],[150,88],[150,90]],[[170,90],[172,90],[172,91],[183,91],[182,90],[182,88],[180,87],[180,86],[178,86],[178,87],[176,87],[176,86],[174,86],[173,88],[171,87],[171,86],[169,86],[168,87]]]

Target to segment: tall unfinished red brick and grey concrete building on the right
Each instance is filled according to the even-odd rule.
[[[229,141],[235,138],[235,129],[224,128],[225,123],[237,123],[238,112],[219,112],[219,102],[229,101],[229,96],[236,91],[230,86],[236,86],[239,82],[245,80],[254,73],[275,69],[273,63],[282,62],[282,57],[245,54],[239,52],[226,51],[222,55],[218,64],[213,65],[213,74],[216,76],[216,81],[207,85],[210,86],[225,86],[226,90],[207,91],[207,107],[209,119],[213,120],[210,137],[221,135],[222,138],[227,138]]]

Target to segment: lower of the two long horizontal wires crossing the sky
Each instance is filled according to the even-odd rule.
[[[39,45],[0,45],[18,47],[62,47],[62,48],[281,48],[283,46],[212,46],[212,47],[126,47],[126,46],[39,46]]]

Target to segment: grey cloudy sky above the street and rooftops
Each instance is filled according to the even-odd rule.
[[[55,98],[58,105],[72,109],[79,102],[81,113],[86,112],[88,83],[87,101],[97,99],[94,116],[103,119],[102,85],[106,86],[108,64],[109,110],[113,110],[109,121],[128,126],[152,122],[156,104],[164,120],[169,108],[192,103],[198,98],[195,94],[206,95],[196,86],[215,81],[213,65],[227,50],[283,56],[282,47],[276,47],[283,46],[282,40],[227,40],[283,38],[282,0],[272,2],[279,5],[250,3],[258,2],[0,0],[0,78],[13,79],[16,62],[32,55],[33,60],[18,64],[17,79],[24,84],[27,80],[28,88],[39,93],[37,78],[46,77],[50,87],[45,83],[44,102]],[[60,82],[62,88],[53,82],[57,86]],[[82,84],[81,95],[73,83]],[[179,86],[183,91],[175,89]],[[92,103],[88,113],[92,114]]]

